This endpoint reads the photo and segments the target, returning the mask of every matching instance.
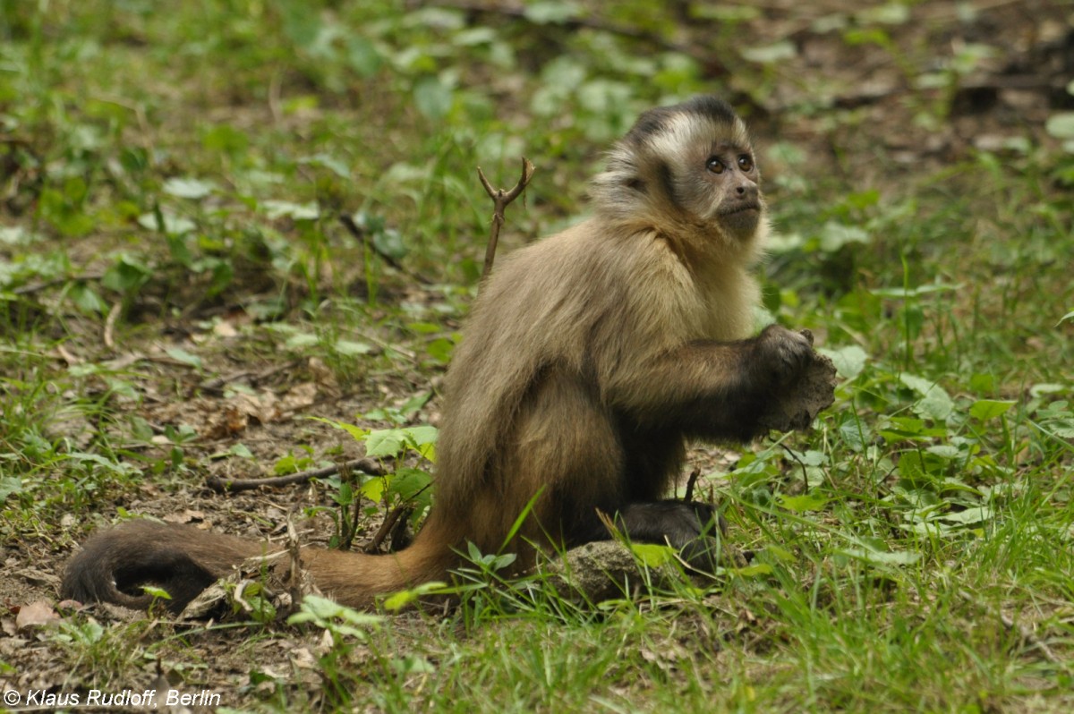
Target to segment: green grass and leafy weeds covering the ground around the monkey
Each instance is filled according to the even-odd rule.
[[[873,30],[900,72],[929,65],[928,30]],[[19,572],[56,572],[126,513],[191,504],[267,529],[287,498],[352,505],[362,484],[338,480],[313,500],[198,492],[354,448],[300,414],[434,420],[487,232],[474,167],[538,166],[506,252],[584,210],[637,111],[713,88],[685,52],[615,32],[388,1],[0,2],[0,537]],[[785,79],[738,61],[755,100]],[[900,105],[939,102],[924,123],[941,126],[946,96]],[[1069,711],[1074,160],[1037,127],[1028,148],[912,171],[883,144],[826,164],[844,129],[887,128],[816,115],[786,110],[798,145],[769,134],[766,307],[844,380],[813,434],[701,458],[749,568],[586,606],[487,573],[444,616],[66,614],[0,650],[0,676],[85,691],[163,671],[250,711]],[[5,623],[55,598],[35,582],[3,591]]]

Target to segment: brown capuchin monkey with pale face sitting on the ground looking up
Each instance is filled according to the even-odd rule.
[[[322,593],[372,607],[449,580],[468,542],[517,553],[521,571],[538,551],[608,539],[601,514],[711,567],[712,507],[662,500],[685,445],[757,436],[812,354],[807,332],[751,337],[768,223],[746,128],[712,97],[645,112],[592,199],[591,218],[516,251],[483,286],[446,378],[437,495],[415,542],[388,555],[302,549]],[[178,612],[278,550],[133,521],[86,542],[62,595],[142,608],[151,583]]]

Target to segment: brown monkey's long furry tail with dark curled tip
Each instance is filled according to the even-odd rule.
[[[326,596],[348,607],[369,608],[377,595],[447,578],[458,556],[451,550],[453,539],[446,538],[450,536],[431,522],[413,544],[398,553],[364,555],[303,548],[302,566]],[[131,521],[86,541],[68,564],[60,595],[145,609],[153,596],[141,586],[154,585],[170,595],[168,608],[178,613],[246,558],[279,550],[189,526]]]

